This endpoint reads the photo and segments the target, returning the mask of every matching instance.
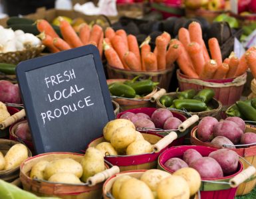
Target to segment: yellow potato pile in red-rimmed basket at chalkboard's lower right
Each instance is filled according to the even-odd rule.
[[[139,155],[152,152],[152,145],[128,119],[109,121],[103,129],[106,142],[96,145],[103,155]]]

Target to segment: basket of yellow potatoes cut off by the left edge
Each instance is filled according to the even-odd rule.
[[[31,151],[25,145],[17,141],[0,139],[0,179],[13,182],[19,178],[19,166],[31,156]]]

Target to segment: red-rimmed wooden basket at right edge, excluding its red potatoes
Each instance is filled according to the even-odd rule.
[[[251,125],[246,125],[245,133],[246,132],[256,133],[256,128]],[[196,133],[197,133],[197,126],[195,126],[192,129],[190,134],[190,141],[192,145],[214,148],[210,143],[205,143],[197,139]],[[231,149],[231,150],[235,151],[240,157],[243,157],[243,159],[245,159],[248,163],[250,163],[254,167],[256,166],[256,146],[252,146],[248,148]],[[243,164],[243,167],[248,168],[249,164],[246,163],[243,159],[240,159],[241,163]],[[255,185],[256,185],[256,174],[238,186],[237,196],[249,194],[249,192],[251,192],[251,190],[255,188]]]

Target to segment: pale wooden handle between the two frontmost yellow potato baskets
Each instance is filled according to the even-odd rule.
[[[88,178],[87,183],[88,186],[94,186],[97,183],[103,182],[110,176],[120,172],[120,169],[118,166],[112,166],[111,168],[108,168],[106,170],[103,170],[102,172],[99,172],[95,174],[94,176],[91,176]]]

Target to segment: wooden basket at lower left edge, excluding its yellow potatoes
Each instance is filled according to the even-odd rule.
[[[8,139],[0,139],[0,151],[5,155],[7,151],[13,145],[19,144],[17,141],[12,141]],[[28,156],[31,157],[31,151],[28,149]],[[13,182],[13,180],[19,178],[19,166],[16,166],[15,168],[9,169],[9,170],[0,170],[0,179],[5,180],[7,182]]]

